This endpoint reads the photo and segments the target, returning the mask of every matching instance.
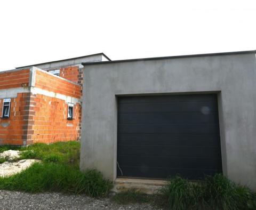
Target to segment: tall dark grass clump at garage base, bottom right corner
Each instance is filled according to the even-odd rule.
[[[199,183],[177,176],[160,190],[170,209],[256,209],[256,195],[221,174]]]

